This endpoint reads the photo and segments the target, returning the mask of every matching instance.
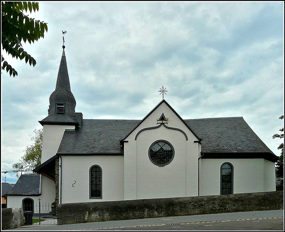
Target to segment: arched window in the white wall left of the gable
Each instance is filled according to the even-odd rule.
[[[89,169],[89,198],[102,199],[102,168],[99,165]]]

